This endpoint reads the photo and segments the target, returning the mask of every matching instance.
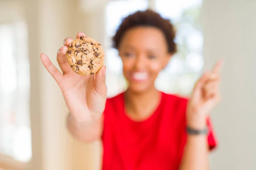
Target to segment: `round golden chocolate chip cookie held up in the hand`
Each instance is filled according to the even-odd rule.
[[[67,48],[67,62],[79,75],[93,75],[104,63],[102,45],[90,37],[77,38]]]

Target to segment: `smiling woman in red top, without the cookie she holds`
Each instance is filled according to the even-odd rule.
[[[198,80],[189,102],[157,91],[154,81],[176,52],[174,38],[170,21],[154,11],[126,17],[113,42],[129,86],[111,99],[106,97],[105,66],[94,76],[71,70],[65,54],[72,38],[57,54],[63,74],[41,54],[70,110],[70,133],[84,142],[102,139],[104,170],[209,169],[207,155],[216,142],[207,113],[220,100],[221,62]]]

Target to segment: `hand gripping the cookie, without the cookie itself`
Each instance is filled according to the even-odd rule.
[[[79,32],[77,38],[85,36]],[[72,38],[64,40],[62,46],[57,52],[58,65],[63,74],[52,64],[46,54],[41,54],[41,60],[44,67],[56,80],[66,101],[73,119],[76,122],[90,122],[99,118],[105,109],[107,86],[105,83],[106,67],[103,66],[92,76],[81,76],[76,74],[70,68],[67,62],[67,46],[73,41]]]

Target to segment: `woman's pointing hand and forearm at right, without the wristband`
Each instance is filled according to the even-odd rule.
[[[221,99],[219,91],[219,61],[210,72],[205,72],[196,82],[186,108],[186,124],[194,130],[207,127],[207,115]],[[188,134],[179,170],[209,170],[207,135]]]

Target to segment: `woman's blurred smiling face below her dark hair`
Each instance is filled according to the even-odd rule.
[[[160,29],[136,27],[126,31],[122,37],[119,56],[129,90],[142,93],[154,88],[154,81],[165,68],[171,54]]]

